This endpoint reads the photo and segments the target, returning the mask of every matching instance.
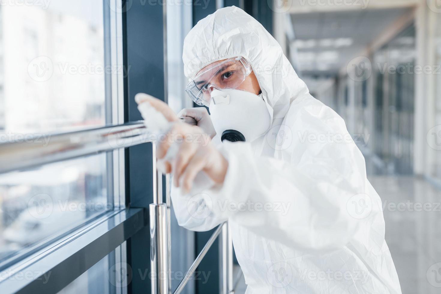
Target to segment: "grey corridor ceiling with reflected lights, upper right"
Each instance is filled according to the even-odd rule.
[[[303,76],[334,76],[360,55],[384,29],[411,8],[314,12],[291,15]]]

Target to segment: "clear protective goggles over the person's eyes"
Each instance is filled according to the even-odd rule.
[[[213,89],[237,89],[250,73],[250,63],[242,56],[214,62],[202,68],[185,91],[194,103],[209,106]]]

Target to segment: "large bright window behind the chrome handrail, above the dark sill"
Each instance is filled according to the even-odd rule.
[[[51,134],[123,122],[116,3],[0,5],[0,143],[44,146]],[[123,167],[124,150],[115,150],[0,174],[0,283],[41,250],[122,209]]]

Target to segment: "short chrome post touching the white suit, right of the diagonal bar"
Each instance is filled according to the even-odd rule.
[[[233,241],[228,222],[222,226],[219,242],[219,293],[233,294]]]

